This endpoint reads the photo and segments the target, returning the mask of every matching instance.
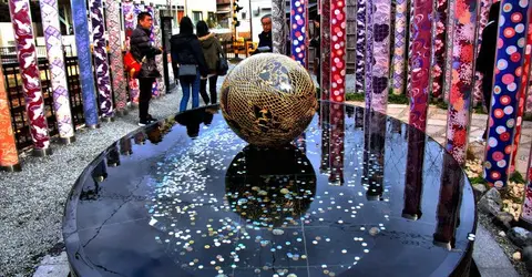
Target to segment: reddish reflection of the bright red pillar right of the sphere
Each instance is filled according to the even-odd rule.
[[[345,140],[345,111],[344,105],[330,104],[330,136],[329,136],[329,165],[331,166],[329,184],[344,184],[344,140]]]

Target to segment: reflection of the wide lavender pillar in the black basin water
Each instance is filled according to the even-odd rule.
[[[365,141],[369,151],[365,153],[365,177],[368,178],[368,191],[366,197],[369,201],[382,198],[385,181],[385,142],[386,142],[386,115],[379,112],[371,112],[369,117],[369,141]],[[367,168],[366,168],[367,167]]]

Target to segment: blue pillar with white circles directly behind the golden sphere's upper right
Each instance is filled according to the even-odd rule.
[[[306,0],[290,1],[291,59],[304,68],[307,64],[307,4]]]

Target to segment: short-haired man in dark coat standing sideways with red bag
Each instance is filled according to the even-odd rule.
[[[161,76],[158,72],[155,55],[161,54],[161,49],[152,47],[150,34],[153,19],[147,12],[141,12],[137,17],[136,29],[133,30],[130,40],[130,52],[136,61],[142,62],[141,72],[139,72],[139,125],[145,126],[156,121],[150,113],[150,100],[152,99],[152,85],[156,78]]]

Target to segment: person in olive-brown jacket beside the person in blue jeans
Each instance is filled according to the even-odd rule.
[[[221,55],[225,59],[225,53],[222,49],[222,44],[219,44],[219,41],[216,38],[216,34],[208,31],[208,27],[205,21],[202,20],[197,22],[196,34],[202,43],[203,55],[205,57],[208,68],[208,91],[211,93],[211,98],[207,95],[207,79],[201,80],[200,93],[202,94],[205,104],[214,104],[218,99],[216,93],[216,82],[218,81],[216,65],[218,64]]]

